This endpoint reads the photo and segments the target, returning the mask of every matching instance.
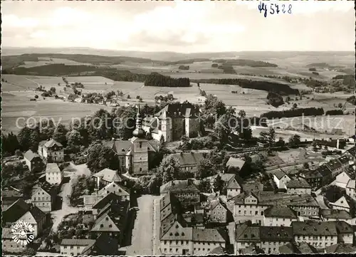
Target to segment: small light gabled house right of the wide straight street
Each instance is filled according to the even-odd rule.
[[[232,219],[231,211],[220,198],[210,202],[208,222],[227,224]],[[230,219],[229,219],[230,218]]]

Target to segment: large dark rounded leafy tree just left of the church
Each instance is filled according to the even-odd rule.
[[[114,170],[119,168],[115,153],[100,143],[94,143],[88,147],[87,165],[92,172],[99,172],[105,168]]]

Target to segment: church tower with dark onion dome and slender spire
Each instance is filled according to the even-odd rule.
[[[140,105],[137,108],[136,128],[132,132],[132,173],[148,174],[148,141],[145,139],[146,132],[142,129],[142,117]]]

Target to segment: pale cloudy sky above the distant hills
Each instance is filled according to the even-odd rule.
[[[1,1],[2,46],[126,51],[354,51],[353,1]],[[287,8],[286,8],[287,9]]]

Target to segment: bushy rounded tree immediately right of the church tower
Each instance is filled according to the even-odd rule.
[[[159,174],[159,177],[162,177],[163,184],[174,179],[179,179],[179,172],[179,160],[173,156],[164,158],[157,168],[157,173]]]

